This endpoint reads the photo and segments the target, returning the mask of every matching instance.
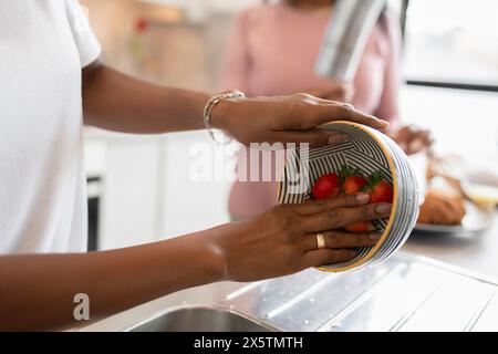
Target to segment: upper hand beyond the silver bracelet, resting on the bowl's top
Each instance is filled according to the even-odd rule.
[[[386,129],[388,123],[340,102],[309,94],[278,97],[231,98],[218,103],[211,113],[212,126],[227,131],[237,140],[250,143],[309,143],[312,147],[338,144],[345,136],[317,129],[331,121],[351,121]]]

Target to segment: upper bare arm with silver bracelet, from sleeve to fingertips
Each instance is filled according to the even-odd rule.
[[[125,133],[167,133],[204,128],[204,93],[152,85],[102,64],[83,70],[85,124]],[[331,121],[385,129],[387,122],[341,102],[307,94],[222,100],[211,111],[212,127],[238,142],[334,144],[338,133],[317,129]]]

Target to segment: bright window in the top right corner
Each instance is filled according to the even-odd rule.
[[[498,91],[498,1],[411,0],[405,39],[408,83]]]

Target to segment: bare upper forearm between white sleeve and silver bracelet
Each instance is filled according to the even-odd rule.
[[[204,127],[205,93],[162,87],[133,79],[103,64],[83,71],[85,124],[138,134]]]

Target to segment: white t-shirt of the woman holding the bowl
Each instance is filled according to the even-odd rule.
[[[86,248],[81,69],[100,53],[77,0],[0,1],[0,254]]]

